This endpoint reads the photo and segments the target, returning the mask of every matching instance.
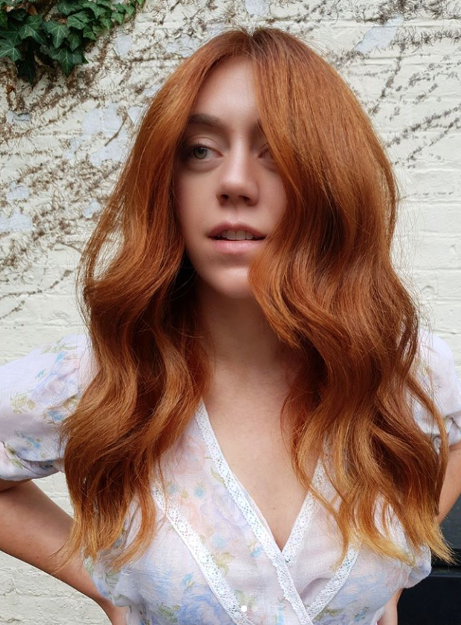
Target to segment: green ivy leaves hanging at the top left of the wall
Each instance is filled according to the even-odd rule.
[[[145,0],[0,0],[0,58],[34,84],[37,64],[61,66],[69,76],[88,63],[83,52],[104,31],[131,17]]]

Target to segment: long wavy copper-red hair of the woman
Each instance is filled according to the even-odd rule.
[[[263,131],[287,195],[283,222],[249,268],[273,331],[302,366],[282,417],[293,422],[293,468],[306,488],[312,441],[323,441],[351,540],[411,563],[376,526],[376,499],[415,548],[453,561],[436,521],[448,459],[414,420],[409,394],[442,431],[418,380],[418,305],[398,277],[391,244],[400,201],[393,168],[346,82],[321,56],[276,28],[224,31],[185,59],[156,92],[78,272],[98,365],[62,425],[75,511],[66,543],[95,558],[122,533],[132,501],[142,523],[121,566],[152,540],[152,478],[210,384],[193,297],[194,269],[175,215],[182,136],[210,71],[246,57]]]

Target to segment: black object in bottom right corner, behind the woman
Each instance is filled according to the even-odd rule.
[[[461,568],[433,567],[397,605],[399,625],[461,625]]]

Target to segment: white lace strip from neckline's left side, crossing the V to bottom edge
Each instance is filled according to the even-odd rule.
[[[284,593],[284,597],[291,604],[291,607],[295,611],[295,614],[300,621],[300,625],[313,625],[312,620],[307,614],[305,605],[302,603],[298,591],[295,588],[293,578],[291,577],[291,574],[288,570],[288,566],[286,565],[284,556],[277,546],[277,543],[275,543],[274,537],[269,531],[265,529],[265,527],[261,523],[261,520],[256,515],[256,512],[254,512],[253,508],[251,508],[251,505],[247,501],[247,498],[244,496],[240,485],[235,479],[231,468],[228,466],[227,461],[224,458],[224,454],[221,451],[221,447],[219,447],[217,438],[216,436],[214,436],[214,431],[212,429],[210,419],[205,408],[205,404],[202,400],[200,400],[200,404],[198,405],[195,419],[196,423],[200,427],[203,440],[205,440],[205,445],[210,452],[210,456],[212,457],[214,464],[217,466],[219,475],[221,475],[224,483],[226,484],[226,488],[228,489],[238,508],[240,508],[245,519],[247,519],[249,526],[254,532],[254,535],[256,536],[256,538],[258,538],[259,542],[263,546],[265,554],[268,556],[273,566],[275,567],[279,586]]]

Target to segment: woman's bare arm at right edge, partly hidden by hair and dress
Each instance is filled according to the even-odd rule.
[[[439,516],[437,522],[441,524],[455,501],[461,494],[461,441],[450,445],[448,454],[448,465],[446,467],[444,484],[442,485],[439,504]],[[397,603],[403,589],[397,591],[395,595],[386,603],[384,612],[377,625],[397,625]]]

